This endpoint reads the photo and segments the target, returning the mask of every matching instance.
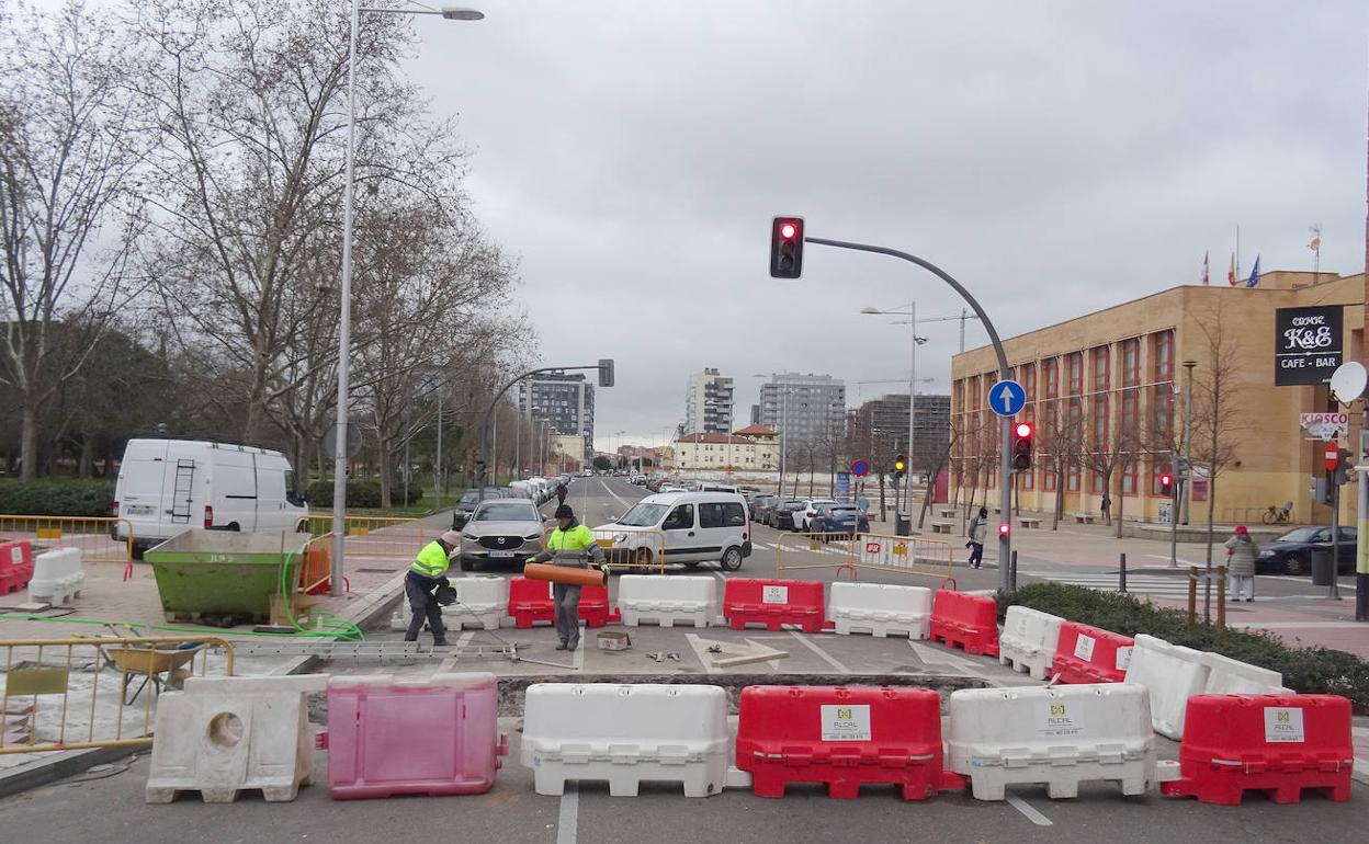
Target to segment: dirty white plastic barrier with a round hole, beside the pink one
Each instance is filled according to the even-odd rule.
[[[144,796],[170,803],[199,791],[205,803],[231,803],[245,788],[267,802],[293,800],[314,776],[314,737],[304,692],[266,691],[272,677],[222,678],[157,699],[152,770]]]

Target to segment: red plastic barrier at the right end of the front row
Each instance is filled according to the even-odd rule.
[[[1194,695],[1179,746],[1180,778],[1164,793],[1239,806],[1246,791],[1298,803],[1316,788],[1350,799],[1350,700],[1339,695]]]

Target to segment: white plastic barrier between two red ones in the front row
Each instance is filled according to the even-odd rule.
[[[1090,780],[1142,795],[1157,781],[1146,689],[1118,683],[976,688],[953,692],[947,765],[969,777],[976,800],[1002,800],[1017,784],[1075,797]]]

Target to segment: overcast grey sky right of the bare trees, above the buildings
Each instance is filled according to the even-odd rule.
[[[935,278],[809,245],[767,271],[769,217],[957,276],[1005,335],[1199,278],[1359,272],[1369,3],[491,0],[423,18],[407,70],[460,116],[470,192],[516,256],[543,362],[617,360],[598,446],[658,440],[691,372],[831,373],[849,404],[908,378]],[[958,326],[919,375],[949,388]],[[971,323],[968,345],[986,342]]]

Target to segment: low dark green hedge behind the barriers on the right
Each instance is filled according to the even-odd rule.
[[[1354,654],[1292,647],[1268,631],[1221,632],[1214,624],[1190,625],[1183,610],[1062,583],[1034,583],[1016,592],[999,592],[998,617],[1002,618],[1014,603],[1124,636],[1150,633],[1173,644],[1268,668],[1281,673],[1284,685],[1296,692],[1343,695],[1355,713],[1369,714],[1369,662]]]

